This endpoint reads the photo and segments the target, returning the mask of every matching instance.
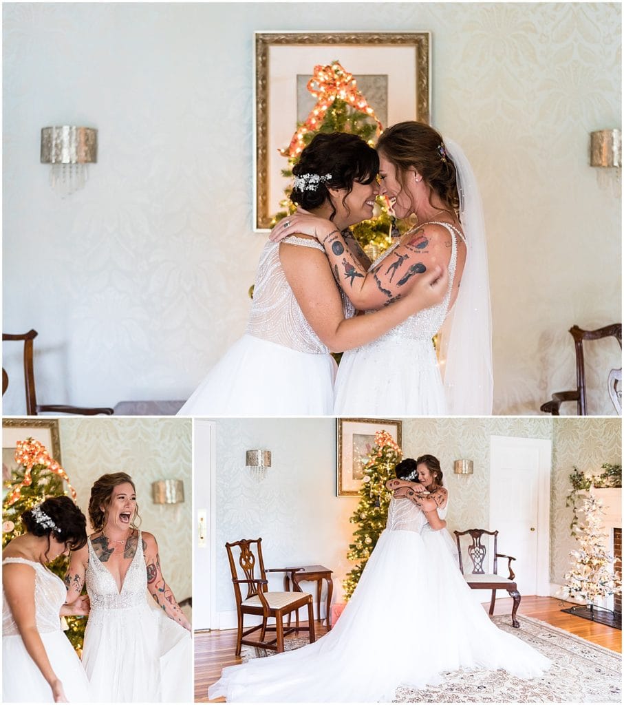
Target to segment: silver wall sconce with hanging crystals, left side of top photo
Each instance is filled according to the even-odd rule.
[[[61,125],[42,128],[41,163],[51,164],[50,185],[61,197],[85,186],[87,164],[97,161],[97,130]]]

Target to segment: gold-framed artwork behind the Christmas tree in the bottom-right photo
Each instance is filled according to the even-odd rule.
[[[375,432],[387,431],[401,446],[401,422],[394,419],[336,419],[336,496],[358,494]]]

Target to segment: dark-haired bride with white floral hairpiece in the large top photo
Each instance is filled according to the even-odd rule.
[[[293,169],[291,199],[330,223],[335,233],[348,235],[349,226],[373,215],[378,166],[377,153],[360,137],[316,135]],[[368,259],[352,238],[343,243],[333,250],[345,253],[335,263],[337,276],[356,278],[360,275],[351,260],[361,268]],[[247,332],[179,413],[331,414],[336,365],[330,353],[373,341],[413,312],[442,300],[446,291],[447,273],[434,267],[410,296],[364,321],[353,317],[333,266],[308,235],[268,242],[258,264]]]

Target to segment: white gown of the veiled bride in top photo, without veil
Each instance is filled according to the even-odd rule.
[[[336,416],[438,416],[446,412],[444,387],[432,338],[449,311],[457,266],[457,238],[463,235],[449,223],[451,233],[449,290],[444,300],[418,311],[372,343],[342,355],[335,384]],[[377,266],[399,245],[389,247]],[[370,270],[369,270],[370,271]]]

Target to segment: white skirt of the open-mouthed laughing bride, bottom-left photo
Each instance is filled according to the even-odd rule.
[[[93,701],[192,700],[189,632],[147,603],[92,607],[82,663]]]

